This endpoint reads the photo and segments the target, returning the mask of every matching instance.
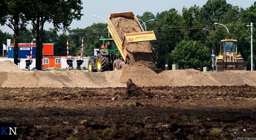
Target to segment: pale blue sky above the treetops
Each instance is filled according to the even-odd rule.
[[[189,8],[191,6],[200,6],[202,7],[206,4],[207,0],[82,0],[83,10],[81,20],[73,20],[70,28],[86,28],[87,26],[92,25],[93,23],[103,22],[107,19],[110,13],[116,12],[128,12],[131,11],[135,15],[142,15],[144,12],[152,12],[156,15],[157,12],[162,12],[175,8],[178,12],[181,13],[182,8]],[[239,6],[242,8],[248,8],[254,4],[254,0],[226,0],[227,3],[232,4],[233,6]],[[100,16],[102,18],[92,17]],[[46,23],[44,29],[52,28],[52,24]],[[32,28],[28,26],[27,28]],[[7,26],[0,26],[2,32],[9,32],[13,34],[12,30]]]

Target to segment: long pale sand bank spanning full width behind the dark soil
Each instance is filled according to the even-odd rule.
[[[165,70],[156,74],[148,67],[125,65],[107,72],[26,71],[11,61],[0,62],[0,87],[126,87],[129,79],[137,86],[256,86],[256,71],[200,72],[194,69]]]

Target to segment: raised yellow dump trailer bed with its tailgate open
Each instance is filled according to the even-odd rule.
[[[118,18],[118,20],[116,20],[117,22],[113,22],[114,18]],[[145,32],[138,21],[138,18],[132,12],[110,14],[108,17],[108,30],[125,63],[128,54],[126,50],[127,44],[134,43],[133,45],[135,45],[136,42],[146,42],[146,45],[143,47],[148,47],[152,50],[150,53],[154,55],[154,51],[151,47],[151,41],[156,40],[154,31]],[[143,50],[143,48],[141,50]]]

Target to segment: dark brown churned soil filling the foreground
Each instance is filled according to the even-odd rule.
[[[0,120],[24,140],[256,137],[255,86],[0,88]]]

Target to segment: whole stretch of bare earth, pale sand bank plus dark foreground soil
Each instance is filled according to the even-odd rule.
[[[19,139],[256,138],[255,72],[43,72],[6,61],[0,74],[0,121],[16,123]]]

